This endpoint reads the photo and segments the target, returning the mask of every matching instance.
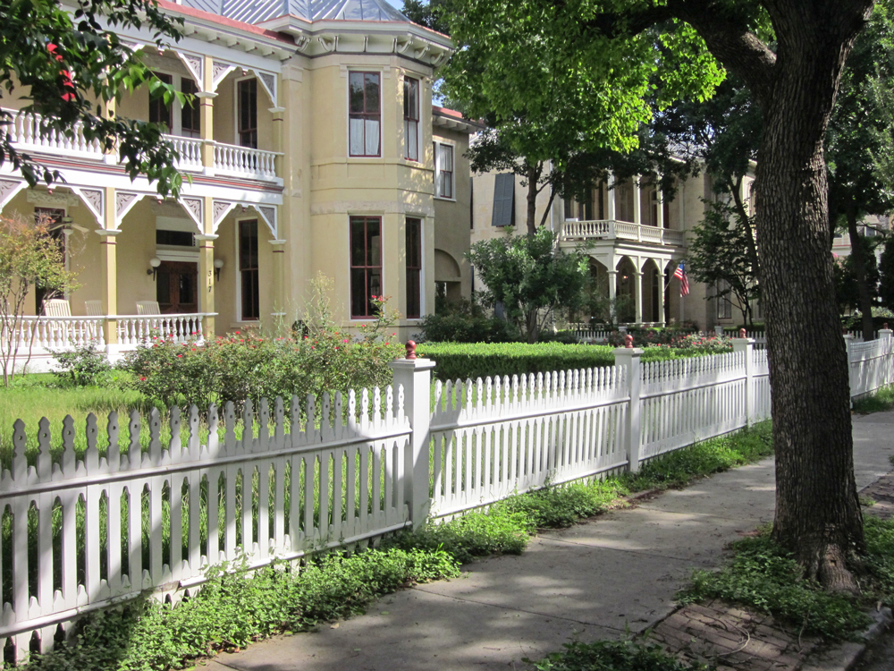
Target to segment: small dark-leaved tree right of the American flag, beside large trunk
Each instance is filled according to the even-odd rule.
[[[742,311],[746,323],[754,327],[751,302],[760,296],[757,283],[755,239],[743,208],[724,202],[705,201],[704,220],[693,228],[689,243],[689,273],[706,285],[721,285],[718,298],[730,296]]]

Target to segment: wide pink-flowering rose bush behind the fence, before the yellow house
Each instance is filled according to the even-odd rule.
[[[133,374],[131,385],[164,406],[195,403],[204,412],[211,403],[222,407],[232,401],[241,409],[247,399],[272,402],[283,396],[288,403],[292,395],[298,395],[303,406],[310,394],[346,393],[391,382],[392,370],[386,364],[401,355],[403,346],[390,330],[394,315],[386,299],[380,303],[379,319],[356,340],[328,322],[279,336],[252,330],[203,343],[155,339],[127,354],[124,365]]]

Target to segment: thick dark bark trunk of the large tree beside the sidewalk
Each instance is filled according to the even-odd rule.
[[[856,3],[839,6],[823,5],[814,13],[806,3],[774,5],[780,50],[772,93],[763,99],[756,227],[776,449],[773,538],[794,553],[808,577],[832,590],[854,591],[846,563],[864,548],[863,517],[822,152],[857,30]],[[838,30],[830,30],[832,23]],[[845,29],[848,24],[855,27]]]

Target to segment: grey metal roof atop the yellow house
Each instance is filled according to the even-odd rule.
[[[246,23],[288,14],[305,21],[410,22],[385,0],[181,0],[181,4]]]

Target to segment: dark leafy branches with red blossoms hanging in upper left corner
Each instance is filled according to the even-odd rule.
[[[26,113],[40,116],[39,132],[98,140],[116,149],[131,179],[145,174],[163,195],[176,193],[181,176],[176,152],[164,140],[158,123],[125,119],[107,113],[105,104],[124,91],[148,85],[165,102],[182,97],[159,81],[142,63],[139,51],[124,44],[114,30],[146,28],[163,47],[180,38],[181,20],[162,13],[155,0],[79,0],[72,10],[49,0],[0,4],[0,87],[7,97],[23,98]],[[13,115],[0,111],[0,125]],[[13,147],[0,134],[0,163],[9,162],[34,186],[58,180],[58,172]]]

